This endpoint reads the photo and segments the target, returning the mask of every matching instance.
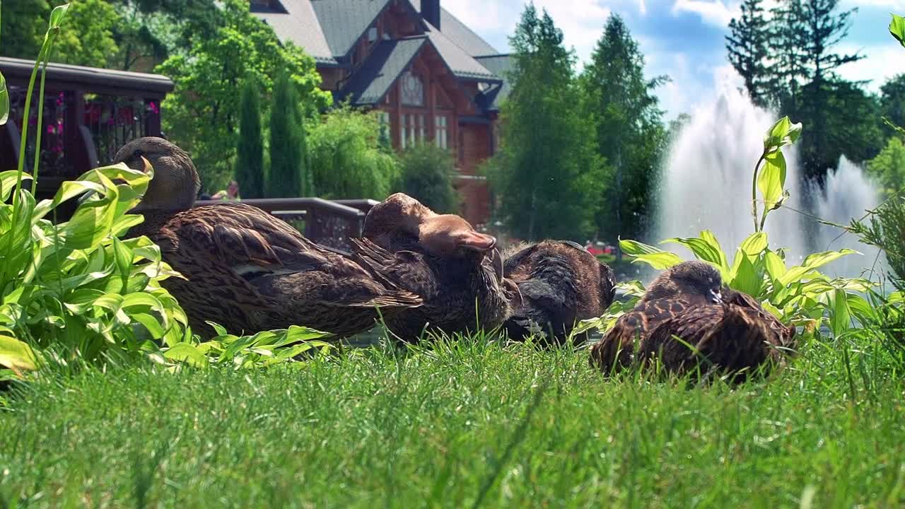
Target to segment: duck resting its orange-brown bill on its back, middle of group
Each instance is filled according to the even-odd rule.
[[[461,216],[436,214],[404,193],[368,211],[353,259],[386,274],[423,299],[387,317],[398,341],[425,334],[494,331],[509,317],[512,288],[504,283],[497,239]]]

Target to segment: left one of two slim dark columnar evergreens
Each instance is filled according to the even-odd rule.
[[[239,146],[236,148],[235,178],[247,198],[264,197],[264,141],[261,130],[261,92],[254,80],[242,85]]]

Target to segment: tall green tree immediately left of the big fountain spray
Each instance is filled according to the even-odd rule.
[[[609,238],[643,234],[666,142],[653,91],[666,80],[644,79],[638,44],[622,18],[610,15],[581,79],[586,110],[595,117],[597,153],[612,169],[597,213],[598,231]]]

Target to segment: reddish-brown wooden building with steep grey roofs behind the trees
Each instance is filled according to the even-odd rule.
[[[462,215],[481,225],[491,197],[478,166],[496,150],[510,58],[440,0],[250,0],[283,42],[317,62],[337,101],[381,111],[396,149],[419,141],[456,154]]]

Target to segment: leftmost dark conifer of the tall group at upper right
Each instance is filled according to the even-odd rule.
[[[767,75],[767,44],[770,28],[764,17],[763,0],[745,0],[741,17],[729,21],[726,51],[729,62],[745,80],[748,97],[758,106],[767,106],[769,84]]]

